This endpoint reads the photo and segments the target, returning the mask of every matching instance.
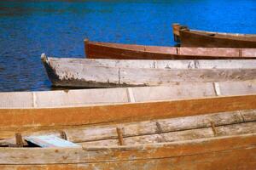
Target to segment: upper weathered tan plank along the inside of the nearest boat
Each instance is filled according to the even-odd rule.
[[[69,141],[81,143],[86,141],[95,141],[102,139],[118,139],[116,133],[116,127],[122,127],[123,137],[132,137],[140,135],[149,135],[154,133],[168,133],[175,131],[184,131],[195,128],[211,127],[211,122],[215,123],[215,126],[223,126],[236,124],[241,122],[253,122],[256,121],[254,110],[250,111],[231,111],[231,112],[221,112],[200,116],[184,116],[171,119],[158,119],[154,121],[145,122],[128,122],[123,124],[113,124],[104,126],[93,126],[93,127],[69,127],[66,129],[61,129],[61,132],[65,132],[65,139]],[[244,118],[247,117],[247,118]],[[6,129],[3,129],[6,132]],[[21,129],[19,129],[21,131]],[[9,135],[15,131],[11,131]],[[38,132],[37,132],[38,131]],[[61,133],[55,127],[49,128],[48,131],[35,129],[32,127],[32,132],[23,132],[26,136],[31,135],[55,135],[63,138]],[[68,138],[67,138],[68,137]],[[15,144],[15,139],[3,139],[6,138],[3,135],[0,136],[0,144]]]

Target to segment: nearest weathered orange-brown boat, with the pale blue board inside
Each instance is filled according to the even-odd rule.
[[[66,129],[80,147],[0,147],[1,169],[252,169],[256,111]],[[38,133],[38,132],[37,132]],[[33,133],[32,135],[37,135]],[[45,133],[45,132],[39,132]],[[38,134],[39,134],[38,133]],[[54,134],[55,132],[47,132]],[[55,133],[59,135],[58,133]],[[31,135],[31,134],[30,134]],[[17,135],[16,135],[17,137]],[[18,138],[5,140],[17,143]],[[15,143],[16,142],[16,143]],[[3,144],[3,140],[0,140]],[[21,139],[21,144],[25,144]],[[4,146],[4,145],[2,145]],[[26,146],[26,148],[20,148]]]

